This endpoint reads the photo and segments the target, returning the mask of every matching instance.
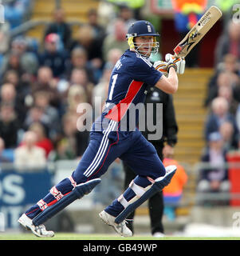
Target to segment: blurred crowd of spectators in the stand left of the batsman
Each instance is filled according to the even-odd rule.
[[[8,4],[20,12],[26,2]],[[135,20],[128,6],[117,8],[113,17],[100,26],[97,10],[89,10],[73,37],[65,10],[58,8],[36,43],[24,34],[2,36],[15,27],[6,15],[0,29],[0,163],[23,170],[33,169],[34,162],[81,158],[89,131],[77,129],[77,106],[99,106],[93,104],[96,97],[103,104],[112,68],[128,48],[127,26]]]

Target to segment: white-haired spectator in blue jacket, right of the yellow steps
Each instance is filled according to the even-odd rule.
[[[231,122],[234,126],[234,138],[238,137],[238,127],[233,114],[229,112],[229,105],[226,98],[214,98],[211,104],[211,112],[207,116],[205,124],[205,138],[208,140],[211,133],[219,131],[222,122]]]

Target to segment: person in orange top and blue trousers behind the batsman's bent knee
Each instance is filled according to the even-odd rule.
[[[183,197],[183,187],[187,183],[187,173],[183,166],[173,158],[173,154],[165,154],[163,165],[165,167],[171,165],[177,166],[176,173],[171,183],[163,189],[164,213],[167,215],[167,218],[172,221],[175,219],[175,211]]]

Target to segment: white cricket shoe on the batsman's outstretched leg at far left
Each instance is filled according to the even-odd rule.
[[[26,214],[22,214],[22,216],[18,218],[18,222],[24,226],[26,230],[31,230],[33,234],[39,238],[52,238],[54,236],[54,232],[46,230],[43,224],[34,226],[32,219],[27,217]]]

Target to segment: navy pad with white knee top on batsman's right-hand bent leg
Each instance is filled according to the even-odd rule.
[[[125,218],[128,217],[129,214],[132,213],[133,210],[136,210],[141,204],[143,204],[148,198],[151,198],[158,191],[163,190],[164,186],[167,186],[171,182],[171,178],[175,174],[177,170],[176,166],[167,166],[166,174],[163,177],[159,177],[155,179],[153,185],[148,189],[140,198],[138,198],[135,202],[129,203],[128,206],[125,204],[125,209],[116,217],[115,222],[119,224],[123,222]]]

